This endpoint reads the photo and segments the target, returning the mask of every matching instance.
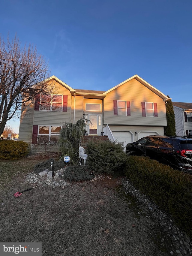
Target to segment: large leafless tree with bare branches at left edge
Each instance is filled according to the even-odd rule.
[[[19,38],[0,38],[0,136],[6,122],[18,116],[37,94],[50,94],[49,71],[36,47],[21,46]]]

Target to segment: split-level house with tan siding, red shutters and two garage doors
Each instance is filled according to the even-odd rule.
[[[170,100],[158,89],[134,75],[108,91],[73,89],[52,76],[55,94],[37,95],[35,105],[22,109],[19,140],[41,152],[51,151],[64,122],[89,119],[88,136],[104,134],[111,140],[131,143],[147,135],[164,135],[165,103]]]

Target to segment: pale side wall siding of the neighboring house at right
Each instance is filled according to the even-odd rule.
[[[186,135],[185,131],[184,131],[184,127],[183,127],[183,123],[185,122],[184,112],[183,112],[182,109],[180,109],[178,107],[174,107],[174,106],[173,106],[173,110],[174,110],[174,113],[175,113],[176,135],[177,136],[184,136],[184,135]]]

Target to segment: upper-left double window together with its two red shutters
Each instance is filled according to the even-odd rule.
[[[67,112],[67,95],[40,95],[35,98],[34,110]]]

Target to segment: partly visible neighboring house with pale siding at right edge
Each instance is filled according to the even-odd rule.
[[[192,103],[172,102],[175,113],[176,135],[192,137]]]

